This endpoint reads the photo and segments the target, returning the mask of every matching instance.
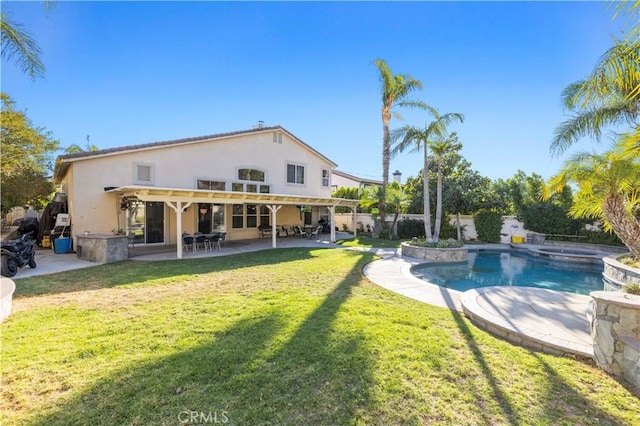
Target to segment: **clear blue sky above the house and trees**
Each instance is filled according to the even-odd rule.
[[[373,65],[421,80],[415,98],[461,112],[462,155],[491,179],[554,174],[560,94],[620,36],[608,2],[2,2],[38,41],[31,81],[2,61],[2,91],[62,146],[110,148],[280,124],[381,179]],[[391,128],[423,126],[399,110]],[[583,141],[576,150],[606,147]],[[419,154],[391,162],[403,180]]]

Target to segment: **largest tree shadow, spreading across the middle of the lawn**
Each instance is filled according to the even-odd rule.
[[[31,422],[179,424],[191,413],[229,424],[358,422],[372,404],[373,360],[360,332],[332,326],[358,283],[349,277],[286,338],[291,319],[271,308],[209,344],[120,370]]]

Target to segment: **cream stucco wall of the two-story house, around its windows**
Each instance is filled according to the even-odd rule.
[[[264,184],[272,194],[330,197],[331,183],[322,185],[323,169],[334,166],[316,152],[278,131],[281,139],[274,142],[273,131],[249,133],[184,143],[173,147],[155,147],[119,152],[112,155],[88,157],[73,161],[62,181],[67,193],[73,233],[111,233],[124,228],[124,213],[119,211],[115,194],[105,193],[105,187],[135,185],[137,164],[150,165],[154,180],[151,186],[162,188],[197,188],[197,180],[224,181],[231,190],[238,169],[251,168],[265,172]],[[281,143],[279,141],[281,140]],[[305,167],[304,184],[289,184],[287,164]],[[197,229],[197,207],[183,213],[183,229]],[[314,208],[314,223],[325,208]],[[230,238],[255,238],[257,229],[232,229],[231,208],[225,210],[227,232]],[[294,206],[278,212],[278,224],[301,224],[301,215]],[[165,206],[165,243],[175,243],[176,218]]]

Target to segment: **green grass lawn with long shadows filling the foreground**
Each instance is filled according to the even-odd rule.
[[[0,422],[639,424],[640,399],[591,363],[381,289],[373,259],[295,248],[16,280]]]

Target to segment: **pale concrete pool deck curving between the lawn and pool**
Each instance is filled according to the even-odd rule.
[[[508,245],[481,247],[509,249]],[[411,268],[424,263],[422,259],[391,250],[378,254],[382,259],[367,265],[364,274],[381,287],[464,312],[480,328],[512,343],[554,355],[593,358],[589,296],[531,287],[483,287],[463,293],[413,276]]]

